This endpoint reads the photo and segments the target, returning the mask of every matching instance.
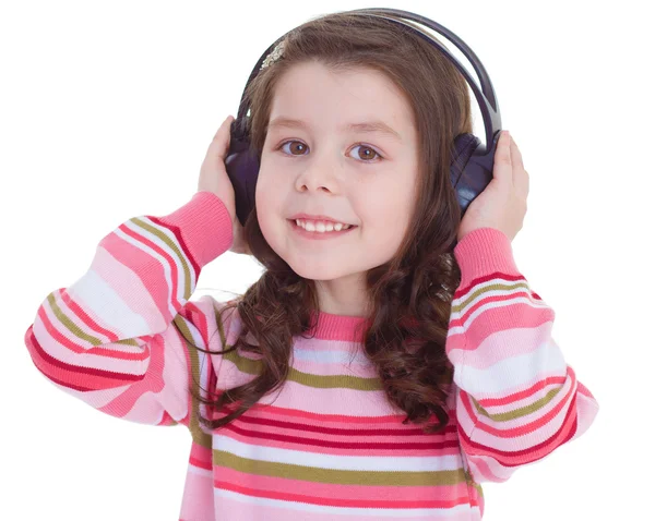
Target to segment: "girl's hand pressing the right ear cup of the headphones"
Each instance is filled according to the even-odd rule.
[[[478,228],[496,228],[512,241],[523,228],[528,192],[529,178],[519,147],[503,131],[493,157],[493,179],[464,213],[457,242]]]

